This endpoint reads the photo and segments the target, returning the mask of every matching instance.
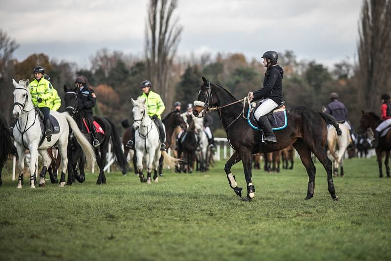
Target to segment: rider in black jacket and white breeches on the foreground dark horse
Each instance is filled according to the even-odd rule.
[[[277,108],[282,102],[282,77],[284,72],[282,67],[277,64],[278,55],[275,51],[267,51],[261,57],[263,58],[263,65],[267,68],[263,88],[250,92],[249,96],[251,100],[262,99],[262,104],[257,108],[254,116],[264,131],[265,141],[277,142],[276,135],[274,135],[272,126],[265,115]]]

